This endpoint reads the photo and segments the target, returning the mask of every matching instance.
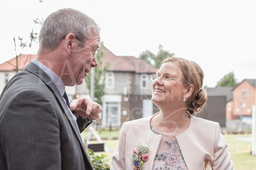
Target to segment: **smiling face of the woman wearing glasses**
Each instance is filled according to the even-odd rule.
[[[157,106],[184,103],[186,87],[182,84],[179,66],[175,62],[165,62],[156,74],[159,78],[152,83],[152,102]]]

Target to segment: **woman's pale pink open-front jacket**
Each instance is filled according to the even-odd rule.
[[[132,153],[139,140],[147,141],[150,148],[149,159],[144,163],[143,169],[153,169],[161,136],[150,130],[152,117],[132,120],[122,125],[118,145],[112,157],[111,170],[132,169],[127,154]],[[176,138],[189,170],[203,170],[207,159],[211,161],[214,170],[234,169],[218,123],[191,115],[188,130]]]

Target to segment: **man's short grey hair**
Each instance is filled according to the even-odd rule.
[[[51,13],[40,30],[38,52],[55,50],[68,33],[87,39],[92,28],[100,31],[96,22],[81,11],[67,8]]]

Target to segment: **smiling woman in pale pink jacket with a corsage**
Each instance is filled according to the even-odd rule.
[[[160,111],[122,125],[111,169],[234,169],[220,125],[193,116],[207,100],[201,67],[168,57],[151,79]]]

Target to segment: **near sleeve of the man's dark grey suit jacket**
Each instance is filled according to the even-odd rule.
[[[0,129],[8,169],[61,169],[60,124],[45,94],[23,90],[10,96]]]

